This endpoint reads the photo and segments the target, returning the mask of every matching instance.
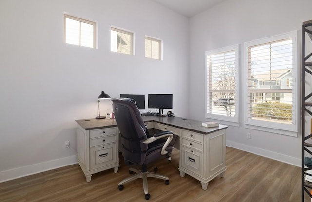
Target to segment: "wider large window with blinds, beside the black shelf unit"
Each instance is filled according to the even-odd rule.
[[[296,36],[294,31],[245,43],[245,123],[250,127],[297,132]],[[265,85],[254,85],[264,81]]]

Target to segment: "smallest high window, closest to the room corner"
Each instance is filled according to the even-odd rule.
[[[145,57],[161,59],[161,40],[145,37]]]

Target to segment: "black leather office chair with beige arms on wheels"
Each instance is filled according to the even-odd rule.
[[[163,179],[165,184],[169,184],[168,177],[147,171],[147,164],[162,156],[171,160],[168,152],[172,151],[172,146],[169,146],[169,144],[173,138],[173,132],[159,132],[150,137],[133,99],[112,98],[112,102],[114,116],[121,134],[121,153],[124,161],[127,165],[136,164],[141,166],[141,170],[130,167],[129,173],[135,172],[137,174],[119,182],[118,188],[121,191],[124,188],[123,184],[142,178],[145,199],[148,200],[151,197],[148,193],[148,177]],[[164,137],[167,137],[167,140]],[[157,168],[154,171],[157,171]]]

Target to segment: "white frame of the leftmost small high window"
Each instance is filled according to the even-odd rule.
[[[79,17],[73,16],[71,14],[64,13],[64,43],[65,44],[71,44],[71,43],[66,43],[66,18],[79,21],[80,25],[81,25],[81,22],[93,25],[93,47],[81,46],[81,35],[79,37],[79,45],[78,46],[97,49],[97,41],[98,41],[97,40],[97,21],[88,20],[85,18],[79,18]],[[81,32],[81,28],[80,28],[79,32]],[[76,44],[71,44],[71,45],[76,45]]]

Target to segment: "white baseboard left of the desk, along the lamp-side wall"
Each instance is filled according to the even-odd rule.
[[[76,155],[4,170],[0,172],[0,183],[73,164],[77,164]]]

